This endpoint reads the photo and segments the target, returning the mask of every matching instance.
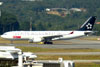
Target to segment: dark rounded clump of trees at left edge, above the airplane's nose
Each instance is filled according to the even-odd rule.
[[[0,34],[7,31],[14,31],[19,29],[19,22],[17,18],[7,12],[2,12],[0,17]]]

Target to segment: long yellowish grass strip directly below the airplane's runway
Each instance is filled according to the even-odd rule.
[[[17,48],[23,51],[30,52],[100,52],[100,49],[54,49],[54,48],[40,48],[40,47],[23,47],[17,46]]]

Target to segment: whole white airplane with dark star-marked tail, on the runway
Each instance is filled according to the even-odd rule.
[[[28,40],[30,43],[53,44],[54,40],[68,40],[93,33],[96,16],[89,17],[78,30],[74,31],[10,31],[1,35],[8,40]]]

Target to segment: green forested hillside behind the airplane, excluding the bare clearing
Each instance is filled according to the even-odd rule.
[[[0,18],[0,33],[12,30],[29,30],[32,17],[32,30],[77,30],[90,16],[100,21],[100,0],[42,0],[25,2],[21,0],[3,0],[3,12]],[[47,14],[46,8],[85,8],[86,12],[75,12],[65,17]],[[94,30],[100,31],[100,25]],[[7,28],[7,29],[6,29]],[[98,32],[98,35],[100,32]]]

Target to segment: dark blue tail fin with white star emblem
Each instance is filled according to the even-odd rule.
[[[91,31],[94,27],[96,16],[91,16],[81,27],[80,31]]]

